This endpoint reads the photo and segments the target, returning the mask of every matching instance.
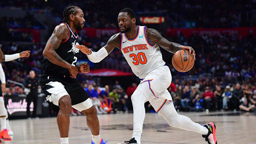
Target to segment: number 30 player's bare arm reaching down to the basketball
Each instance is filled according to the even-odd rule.
[[[170,42],[166,38],[162,37],[161,34],[153,28],[146,28],[146,36],[151,44],[157,43],[170,53],[175,53],[181,49],[189,50],[189,52],[193,54],[194,60],[196,60],[196,53],[192,47],[182,46],[181,44]]]

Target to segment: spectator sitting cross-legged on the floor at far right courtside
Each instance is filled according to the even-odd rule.
[[[244,90],[244,96],[242,97],[242,104],[239,106],[244,111],[250,111],[255,109],[256,101],[252,98],[253,93],[250,90],[250,86],[246,85]]]

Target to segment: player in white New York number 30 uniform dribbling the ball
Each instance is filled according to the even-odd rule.
[[[142,126],[145,118],[144,103],[149,101],[155,111],[172,127],[201,133],[208,144],[217,144],[215,138],[215,125],[209,123],[205,126],[193,122],[190,118],[178,114],[167,88],[171,84],[171,72],[162,60],[159,46],[170,53],[186,49],[193,54],[192,47],[169,42],[161,34],[146,26],[136,26],[135,13],[125,8],[119,12],[118,25],[121,33],[114,34],[98,52],[92,52],[85,46],[76,46],[81,52],[87,54],[91,62],[98,63],[112,50],[119,48],[124,58],[141,82],[134,91],[131,99],[133,104],[133,136],[126,144],[140,144]]]

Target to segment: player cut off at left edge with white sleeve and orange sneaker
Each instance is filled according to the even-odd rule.
[[[21,53],[16,54],[3,54],[1,47],[0,47],[0,61],[1,62],[9,62],[18,58],[23,57],[29,57],[30,56],[30,50],[25,50]],[[0,122],[1,122],[1,133],[0,138],[2,138],[4,141],[11,141],[11,137],[9,135],[13,135],[13,132],[9,125],[8,113],[5,108],[4,104],[4,98],[2,93],[5,92],[6,86],[5,86],[5,73],[2,69],[2,65],[0,63],[0,80],[1,80],[1,92],[0,92]]]

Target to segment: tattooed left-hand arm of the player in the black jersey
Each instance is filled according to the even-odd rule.
[[[63,60],[56,52],[63,40],[68,39],[68,27],[63,23],[54,28],[52,36],[48,39],[46,47],[43,50],[43,56],[46,57],[51,63],[59,65],[69,70],[71,77],[76,78],[78,69],[70,63]]]

